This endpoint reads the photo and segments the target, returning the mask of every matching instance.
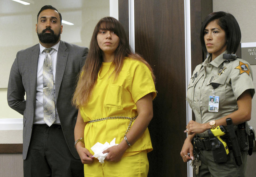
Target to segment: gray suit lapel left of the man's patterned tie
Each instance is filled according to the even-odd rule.
[[[33,106],[35,110],[35,96],[36,96],[36,90],[37,90],[37,65],[38,65],[38,57],[39,57],[40,47],[39,44],[35,45],[31,49],[31,57],[28,57],[29,61],[29,71],[30,74],[30,89],[31,89],[31,98],[33,98]]]

